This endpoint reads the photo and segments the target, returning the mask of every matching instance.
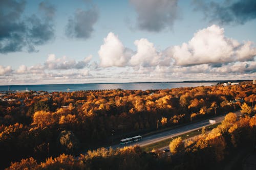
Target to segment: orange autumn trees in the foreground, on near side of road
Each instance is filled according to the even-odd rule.
[[[256,135],[256,117],[229,113],[222,124],[209,133],[185,143],[179,138],[170,142],[171,156],[163,152],[142,152],[141,148],[100,148],[75,159],[61,154],[37,163],[34,158],[12,163],[7,170],[19,169],[222,169],[237,148],[252,149]],[[234,152],[235,151],[235,152]],[[224,165],[223,165],[224,164]],[[237,167],[241,169],[242,167]]]

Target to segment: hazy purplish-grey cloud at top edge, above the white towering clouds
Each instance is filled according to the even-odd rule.
[[[130,0],[130,3],[138,13],[137,25],[141,30],[172,29],[178,18],[178,0]]]

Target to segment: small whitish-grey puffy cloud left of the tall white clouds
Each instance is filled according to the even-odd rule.
[[[56,58],[55,54],[49,54],[45,62],[45,67],[47,69],[81,69],[88,65],[91,61],[92,55],[84,58],[83,61],[76,62],[74,59],[68,60],[66,56],[62,58]]]

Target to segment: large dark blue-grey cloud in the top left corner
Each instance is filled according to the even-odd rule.
[[[44,9],[52,8],[44,3]],[[54,38],[53,15],[23,17],[25,1],[0,1],[0,53],[22,51],[37,52],[35,45],[45,44]],[[39,5],[40,6],[40,5]],[[47,19],[46,19],[47,18]]]

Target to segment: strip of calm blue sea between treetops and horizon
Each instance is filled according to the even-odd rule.
[[[49,85],[10,85],[10,90],[33,90],[33,91],[70,91],[99,90],[99,89],[126,89],[148,90],[166,89],[177,87],[211,86],[216,83],[92,83],[92,84],[49,84]],[[8,90],[8,86],[0,86],[0,91]]]

